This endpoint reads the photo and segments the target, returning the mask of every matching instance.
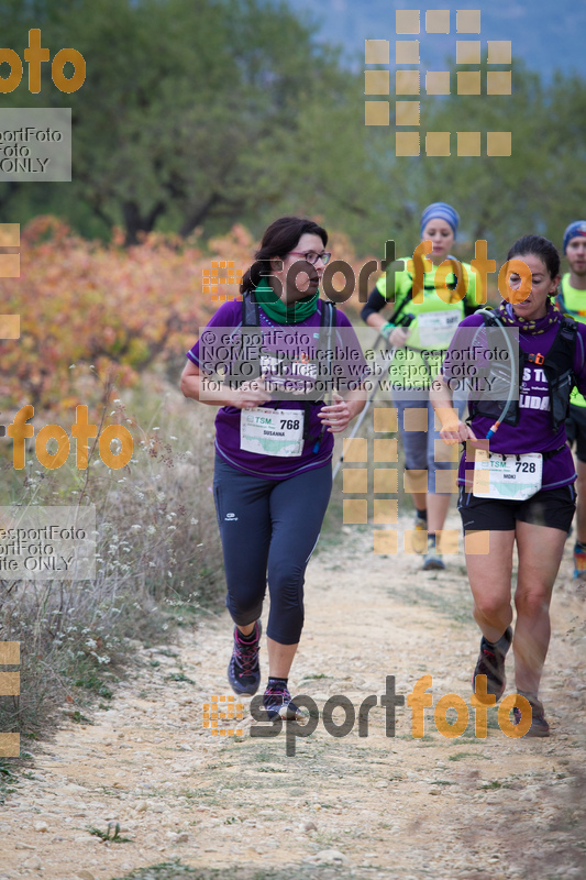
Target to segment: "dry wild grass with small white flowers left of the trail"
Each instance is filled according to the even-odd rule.
[[[102,414],[128,424],[134,437],[126,468],[111,471],[93,454],[87,472],[78,471],[74,453],[47,471],[33,452],[22,472],[11,459],[2,465],[8,490],[0,504],[97,510],[95,581],[0,580],[0,641],[21,642],[21,695],[0,697],[0,729],[25,737],[51,727],[64,703],[82,721],[88,701],[109,698],[135,641],[170,639],[177,626],[195,625],[215,607],[222,592],[208,492],[214,410],[153,377],[124,403],[108,385],[103,393]],[[59,424],[66,427],[65,418]]]

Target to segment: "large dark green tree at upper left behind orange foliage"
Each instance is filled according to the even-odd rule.
[[[79,210],[80,201],[106,228],[123,223],[129,243],[155,227],[187,235],[201,224],[211,233],[235,220],[264,223],[266,211],[308,190],[316,109],[336,103],[350,129],[355,77],[286,6],[69,0],[59,13],[40,0],[27,15],[4,6],[21,44],[37,25],[43,45],[85,56],[82,88],[64,96],[45,69],[36,99],[73,108],[74,183],[60,207]],[[330,177],[349,180],[350,156],[339,158]],[[330,186],[320,210],[333,213],[345,198],[339,189]],[[4,186],[4,198],[14,195]]]

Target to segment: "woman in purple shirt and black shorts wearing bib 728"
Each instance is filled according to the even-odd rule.
[[[505,403],[482,396],[471,399],[469,427],[450,410],[449,385],[456,372],[463,375],[462,353],[482,352],[479,341],[477,349],[476,343],[471,349],[469,333],[479,340],[486,332],[484,316],[476,314],[458,327],[432,399],[445,442],[472,441],[460,464],[458,509],[466,536],[474,617],[483,632],[474,681],[486,675],[488,694],[496,700],[502,696],[505,658],[512,641],[517,693],[532,710],[527,736],[549,736],[539,685],[550,641],[552,590],[575,509],[576,471],[564,419],[572,387],[586,391],[586,326],[565,318],[553,306],[560,254],[548,239],[519,239],[507,255],[508,261],[513,258],[531,272],[529,293],[522,289],[521,274],[509,266],[510,301],[502,301],[488,320],[504,328],[498,331],[501,338],[507,328],[518,332],[518,394],[509,392]],[[479,354],[477,360],[482,361]],[[476,364],[468,365],[468,375],[473,372],[477,372]],[[482,472],[488,475],[486,482],[479,477]],[[513,638],[515,544],[519,566]],[[515,723],[519,724],[521,717],[516,707]]]

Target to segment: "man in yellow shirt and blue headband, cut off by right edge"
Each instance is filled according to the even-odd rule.
[[[564,254],[570,272],[562,278],[557,307],[564,315],[586,323],[586,220],[570,223],[564,232]],[[576,543],[574,546],[574,578],[586,580],[586,399],[574,388],[570,398],[566,421],[567,440],[576,444]]]

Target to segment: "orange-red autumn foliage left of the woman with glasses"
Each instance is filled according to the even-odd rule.
[[[21,338],[0,342],[4,405],[75,406],[71,364],[93,364],[101,375],[114,364],[120,387],[178,358],[219,306],[202,290],[203,270],[230,260],[244,272],[255,250],[241,226],[206,246],[197,237],[158,233],[129,249],[122,242],[121,231],[108,244],[85,241],[52,217],[22,231],[21,276],[0,279],[2,312],[21,316]],[[331,243],[336,257],[355,262],[347,239]],[[221,285],[220,293],[237,288]]]

